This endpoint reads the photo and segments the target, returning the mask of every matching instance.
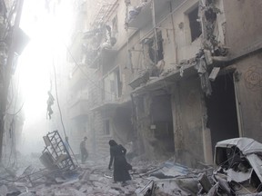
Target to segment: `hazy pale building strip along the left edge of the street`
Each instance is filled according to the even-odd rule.
[[[19,73],[15,73],[20,55],[29,37],[19,27],[23,1],[0,1],[0,160],[15,164],[15,143],[22,143],[25,122],[23,100],[19,92]],[[16,142],[15,142],[16,141]]]

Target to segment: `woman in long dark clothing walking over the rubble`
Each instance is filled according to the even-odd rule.
[[[126,181],[131,180],[131,176],[128,170],[131,169],[131,165],[126,162],[126,149],[121,145],[117,144],[116,141],[110,140],[110,162],[108,169],[111,169],[112,163],[114,161],[114,181]]]

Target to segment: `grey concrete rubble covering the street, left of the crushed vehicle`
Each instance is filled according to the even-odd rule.
[[[8,171],[8,169],[1,167],[0,195],[142,196],[159,195],[160,192],[165,193],[165,195],[196,195],[197,191],[196,176],[199,171],[191,171],[173,161],[146,162],[134,160],[132,162],[133,170],[130,171],[132,180],[126,181],[125,186],[121,185],[120,182],[115,183],[113,181],[112,171],[107,169],[109,159],[106,158],[87,161],[86,164],[80,164],[74,171],[48,171],[43,166],[41,167],[38,162],[38,160],[34,161],[33,159],[30,166],[20,167],[17,171]],[[34,164],[37,166],[34,166]],[[210,170],[208,169],[207,172],[210,172]],[[170,179],[173,177],[176,177],[177,181]],[[186,184],[183,184],[183,181],[186,181]],[[153,182],[155,187],[159,187],[159,194],[150,193],[152,192]],[[175,185],[176,183],[177,185]]]

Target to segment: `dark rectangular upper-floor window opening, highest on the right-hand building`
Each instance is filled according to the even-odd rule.
[[[195,9],[188,13],[188,20],[191,32],[191,42],[194,42],[200,34],[202,34],[202,29],[198,19],[198,5]]]

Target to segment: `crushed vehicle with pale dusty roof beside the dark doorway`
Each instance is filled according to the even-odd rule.
[[[213,180],[208,195],[260,195],[262,144],[250,138],[217,142]],[[212,193],[211,193],[212,192]],[[259,193],[260,192],[260,193]]]

